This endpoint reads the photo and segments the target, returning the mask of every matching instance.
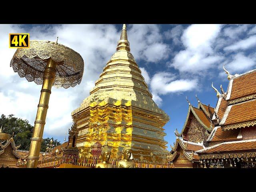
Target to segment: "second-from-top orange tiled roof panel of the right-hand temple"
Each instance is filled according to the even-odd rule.
[[[252,120],[256,120],[256,100],[233,105],[224,125]]]

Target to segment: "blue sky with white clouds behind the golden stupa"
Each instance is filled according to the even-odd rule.
[[[72,124],[70,114],[89,95],[103,67],[115,52],[122,24],[118,25],[4,25],[0,24],[0,114],[10,113],[33,124],[41,86],[19,78],[10,68],[15,52],[8,48],[9,33],[30,33],[30,39],[64,44],[84,58],[84,76],[75,88],[53,88],[44,130],[45,137],[63,141]],[[220,24],[128,24],[131,53],[153,94],[154,101],[169,116],[164,126],[168,142],[175,140],[174,130],[182,129],[190,103],[197,106],[195,95],[204,104],[215,107],[216,93],[222,84],[226,91],[227,75],[241,74],[256,66],[256,26]],[[80,38],[82,37],[82,39]]]

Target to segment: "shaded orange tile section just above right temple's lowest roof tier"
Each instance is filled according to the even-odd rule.
[[[217,128],[213,138],[211,141],[234,141],[238,140],[237,136],[240,132],[240,129],[234,129],[234,130],[222,130],[222,128]]]

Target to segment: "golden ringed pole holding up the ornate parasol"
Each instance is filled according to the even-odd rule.
[[[39,153],[41,149],[41,143],[44,132],[44,124],[52,89],[52,83],[54,82],[56,74],[56,62],[51,58],[48,59],[46,69],[44,70],[44,82],[41,89],[40,100],[38,104],[36,120],[31,138],[31,144],[28,154],[28,168],[36,168],[39,159]]]

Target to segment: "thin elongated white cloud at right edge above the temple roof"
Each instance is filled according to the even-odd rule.
[[[256,46],[256,35],[240,40],[230,46],[225,47],[223,50],[225,51],[246,50],[253,46]]]

